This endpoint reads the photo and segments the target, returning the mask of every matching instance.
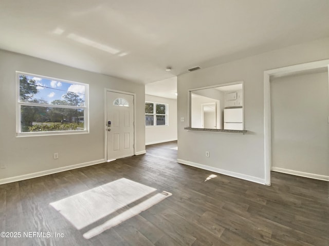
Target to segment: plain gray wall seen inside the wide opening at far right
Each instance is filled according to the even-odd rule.
[[[270,80],[272,169],[329,179],[328,72]]]

